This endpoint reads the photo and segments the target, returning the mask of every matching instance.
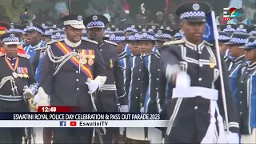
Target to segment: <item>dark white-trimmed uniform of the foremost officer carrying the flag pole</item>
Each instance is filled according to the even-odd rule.
[[[168,43],[170,43],[170,46],[168,46]],[[213,46],[207,42],[202,42],[197,46],[186,40],[180,40],[177,42],[166,42],[166,46],[164,47],[166,48],[162,50],[160,64],[162,74],[166,75],[166,66],[168,64],[170,66],[180,66],[183,71],[186,71],[186,73],[190,75],[190,86],[200,86],[218,90],[218,107],[222,118],[225,118],[223,117],[224,110],[217,56]],[[230,81],[223,59],[221,64],[226,91],[229,130],[238,133],[239,126],[235,112],[234,98],[230,90]],[[174,87],[170,87],[170,90],[173,90],[173,88]],[[170,94],[172,94],[172,91]],[[179,106],[178,111],[176,111],[177,106]],[[195,98],[170,99],[170,102],[166,104],[166,110],[162,110],[162,114],[166,114],[168,119],[170,119],[170,116],[174,117],[174,127],[178,128],[175,129],[175,134],[170,132],[170,136],[173,134],[174,138],[184,139],[182,137],[186,135],[184,142],[190,142],[190,138],[194,137],[194,134],[191,134],[190,130],[195,129],[202,131],[202,134],[198,135],[198,137],[203,138],[210,124],[210,113],[208,113],[209,106],[210,100],[200,96]]]

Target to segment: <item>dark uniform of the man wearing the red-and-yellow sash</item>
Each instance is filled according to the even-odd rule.
[[[65,55],[61,49],[63,46],[66,47],[66,50],[78,53],[81,50],[94,50],[94,64],[89,65],[86,63],[85,65],[90,67],[90,72],[94,77],[106,76],[102,55],[97,49],[98,42],[82,40],[81,44],[74,44],[65,39],[59,42],[52,42],[50,48],[47,49],[46,56],[42,62],[39,87],[42,87],[47,94],[50,93],[51,106],[82,106],[81,112],[92,112],[93,106],[90,94],[88,94],[88,86],[85,83],[90,76],[85,74],[82,68],[79,72],[79,64],[74,65],[71,60],[68,60],[54,74],[61,62],[53,62],[49,58],[49,53],[51,53],[51,58],[61,57]],[[53,143],[91,143],[92,134],[93,128],[54,128]]]

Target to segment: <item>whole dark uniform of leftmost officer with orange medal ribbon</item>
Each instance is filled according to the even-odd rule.
[[[20,54],[22,55],[22,54]],[[30,61],[28,57],[25,55],[18,56],[19,62],[18,67],[23,67],[23,69],[26,67],[28,70],[29,78],[14,78],[14,82],[17,86],[17,92],[18,95],[15,96],[23,96],[24,92],[24,86],[30,86],[34,84],[36,81],[34,79],[34,72],[32,70],[32,66],[30,64]],[[16,58],[10,59],[8,58],[11,64],[15,64]],[[0,55],[0,66],[2,67],[0,70],[0,81],[2,78],[5,78],[6,76],[13,76],[13,71],[10,70],[8,67],[5,56]],[[13,65],[14,66],[14,65]],[[3,96],[10,96],[14,95],[13,91],[11,90],[12,86],[10,85],[10,81],[7,81],[2,88],[0,89],[0,95]],[[13,96],[13,97],[15,97]],[[19,101],[8,101],[1,99],[0,100],[0,112],[28,112],[29,108],[26,105],[26,102],[21,98]],[[0,128],[0,143],[22,143],[22,137],[24,136],[24,128],[9,128],[9,127],[2,127]]]

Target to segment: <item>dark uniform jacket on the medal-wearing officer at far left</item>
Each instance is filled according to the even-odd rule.
[[[18,58],[18,60],[17,60]],[[32,70],[32,66],[29,61],[29,56],[25,54],[18,54],[17,58],[5,58],[4,54],[0,54],[0,66],[2,69],[0,70],[0,102],[1,102],[1,111],[5,112],[8,108],[14,110],[13,108],[16,108],[16,111],[27,111],[25,102],[23,100],[23,93],[24,93],[24,88],[26,86],[33,85],[36,83],[35,78],[34,78],[34,72]],[[12,66],[18,62],[18,68],[16,70],[16,74],[25,74],[24,72],[21,72],[20,70],[26,70],[26,74],[28,75],[28,78],[21,77],[16,77],[14,78],[14,71],[9,68],[7,65],[7,61],[10,62]],[[17,60],[17,61],[16,61]],[[14,82],[6,81],[3,82],[4,78],[6,77],[12,77],[14,78]],[[2,86],[1,86],[2,85]],[[17,87],[16,87],[17,86]],[[16,88],[17,92],[16,92]],[[13,90],[14,91],[13,91]],[[22,106],[23,109],[20,107]],[[7,110],[8,111],[8,110]]]

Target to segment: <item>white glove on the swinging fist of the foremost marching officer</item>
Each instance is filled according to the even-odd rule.
[[[176,76],[177,87],[190,87],[190,75],[185,71],[181,71]]]

